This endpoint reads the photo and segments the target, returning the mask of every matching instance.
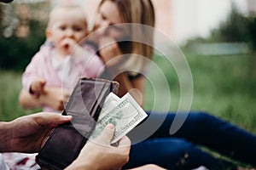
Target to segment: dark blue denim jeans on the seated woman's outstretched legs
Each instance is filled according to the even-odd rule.
[[[182,113],[178,113],[181,114]],[[131,139],[130,161],[124,168],[154,163],[167,169],[191,169],[205,166],[209,169],[233,169],[196,145],[204,145],[230,158],[256,165],[256,136],[205,112],[189,112],[182,127],[170,134],[175,114],[148,113],[151,121],[139,129],[139,134],[154,124],[160,127],[148,139],[137,141],[137,129],[128,133]],[[184,115],[186,116],[186,115]],[[135,141],[135,142],[134,142]],[[134,143],[134,144],[133,144]],[[196,144],[196,145],[195,145]]]

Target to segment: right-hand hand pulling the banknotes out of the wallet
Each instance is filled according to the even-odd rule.
[[[118,146],[112,146],[110,142],[113,133],[114,126],[108,124],[95,140],[88,141],[84,145],[79,157],[66,170],[120,169],[129,160],[131,140],[125,136],[119,140]]]

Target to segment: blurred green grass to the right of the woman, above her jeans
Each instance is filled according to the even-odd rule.
[[[255,54],[254,54],[255,55]],[[207,111],[239,127],[256,134],[256,59],[253,54],[228,56],[200,56],[185,54],[193,77],[192,111]],[[165,72],[169,83],[172,104],[169,111],[177,111],[180,100],[180,87],[172,65],[163,57],[155,56],[154,63]],[[151,71],[145,94],[145,109],[152,110],[155,100],[165,104],[167,93],[162,91],[160,98],[154,96],[150,82],[158,80],[155,71]],[[159,78],[160,80],[160,78]],[[159,82],[160,83],[160,82]],[[163,106],[156,105],[155,110]]]

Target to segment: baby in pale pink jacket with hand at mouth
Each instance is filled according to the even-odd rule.
[[[62,87],[70,92],[79,77],[99,77],[103,62],[94,48],[84,42],[87,19],[79,5],[55,7],[49,14],[47,42],[33,56],[22,75],[22,85],[38,97],[45,86]],[[47,109],[44,111],[53,111]]]

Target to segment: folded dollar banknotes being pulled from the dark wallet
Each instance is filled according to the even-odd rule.
[[[137,101],[127,93],[122,98],[110,93],[102,105],[102,111],[90,139],[95,139],[109,123],[115,126],[115,133],[111,143],[117,142],[133,127],[142,122],[148,115]]]

